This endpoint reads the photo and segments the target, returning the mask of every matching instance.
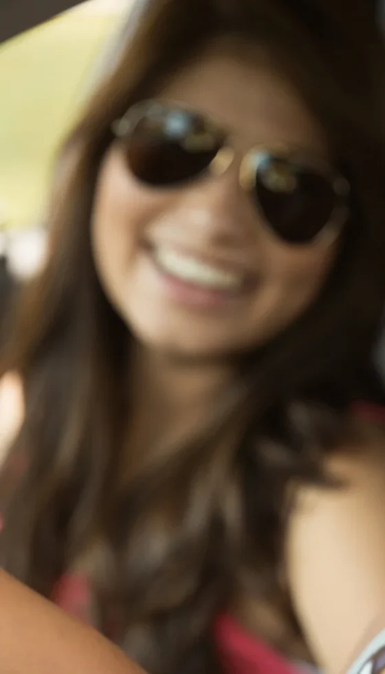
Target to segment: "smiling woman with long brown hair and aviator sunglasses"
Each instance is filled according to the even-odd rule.
[[[152,0],[127,35],[3,362],[2,565],[151,674],[346,671],[385,622],[373,12]]]

